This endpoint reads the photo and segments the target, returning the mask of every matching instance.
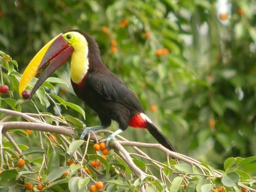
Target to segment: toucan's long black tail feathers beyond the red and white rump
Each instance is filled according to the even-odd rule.
[[[164,147],[168,148],[168,150],[176,152],[176,150],[174,149],[172,144],[168,141],[168,139],[166,139],[166,137],[159,131],[159,129],[157,129],[157,127],[153,123],[147,121],[147,129],[148,129],[149,133],[160,144],[162,144]]]

